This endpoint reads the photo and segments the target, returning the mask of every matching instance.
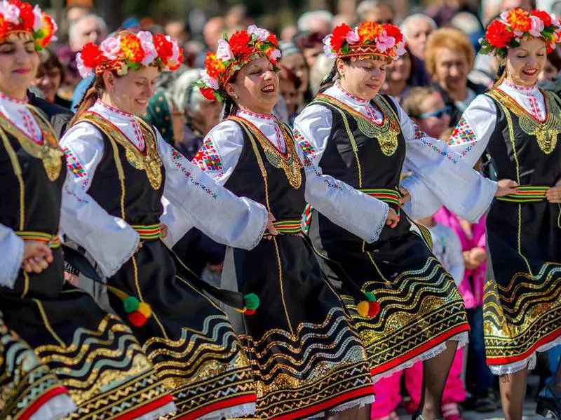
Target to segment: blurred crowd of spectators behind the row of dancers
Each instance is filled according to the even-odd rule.
[[[328,11],[308,11],[296,22],[283,27],[269,27],[280,40],[282,58],[278,62],[280,77],[276,116],[289,125],[318,93],[321,81],[332,69],[333,60],[323,53],[323,39],[335,25],[355,25],[364,20],[399,25],[407,38],[407,53],[388,65],[381,93],[391,95],[428,135],[447,140],[461,114],[477,95],[492,88],[498,63],[490,55],[480,55],[478,40],[485,25],[501,11],[515,7],[532,10],[533,0],[503,0],[496,10],[479,13],[461,0],[442,0],[425,10],[398,16],[392,3],[364,0],[354,15],[334,15]],[[558,2],[561,4],[561,2]],[[553,5],[553,12],[560,4]],[[51,50],[41,51],[41,67],[34,82],[34,93],[67,109],[75,109],[90,80],[81,80],[76,67],[76,53],[88,42],[100,43],[112,30],[140,29],[165,32],[180,41],[184,48],[184,65],[173,73],[163,73],[151,98],[145,118],[160,130],[164,139],[184,156],[193,158],[203,138],[219,123],[222,105],[205,99],[196,87],[199,72],[208,51],[216,50],[217,41],[254,22],[244,6],[234,6],[224,15],[205,19],[170,20],[156,25],[153,19],[129,18],[120,28],[108,28],[93,8],[72,6],[65,11],[60,41]],[[263,22],[258,24],[262,26]],[[540,75],[544,88],[561,91],[561,58],[557,51],[548,55],[548,64]],[[485,163],[482,163],[485,170]],[[488,168],[487,168],[488,169]],[[492,172],[492,171],[491,171]],[[492,177],[492,173],[487,175]],[[452,367],[452,384],[445,391],[445,417],[460,419],[458,405],[480,412],[498,409],[495,379],[485,364],[482,342],[482,292],[485,282],[485,220],[470,224],[445,208],[435,216],[420,221],[435,238],[435,254],[452,273],[464,296],[471,321],[470,345],[466,354],[459,352]],[[190,231],[177,245],[180,254],[208,280],[222,269],[224,248]],[[541,384],[555,370],[558,351],[544,355],[537,367]],[[548,357],[550,360],[548,360]],[[418,403],[416,384],[421,370],[412,367],[377,387],[373,419],[392,419],[391,398],[403,396],[403,405],[412,411]],[[384,379],[386,380],[386,379]],[[387,386],[385,386],[386,384]],[[419,386],[417,386],[419,385]],[[384,401],[390,409],[384,411]],[[447,408],[446,408],[447,407]],[[389,413],[388,413],[389,411]]]

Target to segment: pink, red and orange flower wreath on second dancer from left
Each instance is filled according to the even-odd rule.
[[[87,43],[76,55],[76,65],[83,78],[110,71],[119,76],[128,69],[157,67],[173,71],[183,62],[183,50],[169,36],[152,35],[147,31],[137,34],[123,31],[105,39],[99,46]]]

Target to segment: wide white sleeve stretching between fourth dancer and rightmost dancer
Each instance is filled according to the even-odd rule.
[[[475,101],[474,101],[475,102]],[[411,194],[405,208],[410,217],[418,219],[432,215],[442,205],[469,221],[478,220],[491,204],[496,193],[496,182],[482,177],[473,169],[462,154],[473,150],[466,145],[454,151],[447,142],[428,137],[396,103],[403,135],[407,144],[404,165],[412,170],[411,177],[403,179],[401,185]],[[476,142],[476,140],[475,140]],[[482,150],[485,146],[482,147]],[[473,151],[471,156],[475,156]]]

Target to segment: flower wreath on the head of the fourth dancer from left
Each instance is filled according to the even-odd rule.
[[[396,25],[362,22],[352,29],[346,23],[323,39],[323,51],[330,58],[382,58],[386,62],[405,54],[405,38]]]

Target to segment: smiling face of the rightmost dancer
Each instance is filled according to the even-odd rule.
[[[522,39],[519,47],[508,48],[506,79],[518,86],[534,86],[546,62],[546,43],[542,39]]]

